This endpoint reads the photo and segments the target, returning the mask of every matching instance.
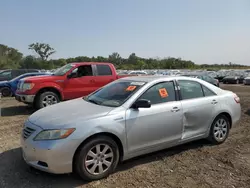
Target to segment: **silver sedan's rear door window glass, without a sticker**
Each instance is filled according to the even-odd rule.
[[[182,100],[204,97],[201,84],[195,81],[179,80]]]

